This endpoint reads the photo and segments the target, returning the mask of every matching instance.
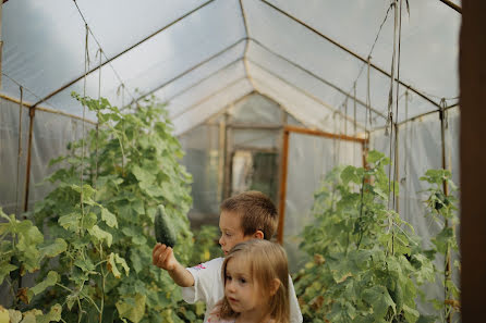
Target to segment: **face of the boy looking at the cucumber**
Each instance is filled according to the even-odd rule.
[[[227,256],[235,245],[253,238],[253,236],[245,236],[243,234],[240,215],[234,212],[221,211],[221,215],[219,216],[219,229],[221,231],[219,245],[221,245],[224,256]]]

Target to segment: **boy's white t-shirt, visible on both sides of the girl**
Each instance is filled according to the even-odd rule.
[[[224,258],[216,258],[196,266],[187,268],[189,272],[194,277],[194,286],[182,287],[182,298],[189,303],[194,303],[199,300],[206,303],[204,322],[206,322],[216,303],[224,297],[224,284],[221,277],[221,266],[223,261]],[[289,302],[290,323],[302,323],[301,309],[290,276]]]

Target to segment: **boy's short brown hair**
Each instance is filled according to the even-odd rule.
[[[221,203],[220,209],[240,215],[245,236],[259,229],[264,233],[264,239],[270,240],[277,231],[277,208],[270,198],[260,191],[248,190],[232,196]]]

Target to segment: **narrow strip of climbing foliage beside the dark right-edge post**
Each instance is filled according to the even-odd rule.
[[[444,277],[442,286],[445,288],[445,301],[434,301],[437,309],[444,312],[444,320],[453,312],[460,312],[460,289],[452,279],[453,268],[460,269],[460,262],[452,264],[451,256],[459,251],[458,238],[455,235],[455,225],[459,224],[458,199],[453,192],[458,190],[451,179],[452,174],[447,170],[428,170],[420,179],[430,184],[427,189],[427,200],[425,203],[428,209],[428,216],[432,216],[438,223],[440,231],[432,239],[434,245],[429,254],[435,258],[441,256],[445,259],[444,270],[438,270]],[[448,190],[445,190],[445,188]]]

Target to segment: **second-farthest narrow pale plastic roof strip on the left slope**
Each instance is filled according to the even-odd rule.
[[[191,90],[172,99],[168,107],[169,115],[173,116],[183,113],[186,109],[190,109],[202,100],[212,96],[212,94],[221,89],[222,86],[244,78],[245,74],[243,61],[219,71],[211,77],[195,85]]]

